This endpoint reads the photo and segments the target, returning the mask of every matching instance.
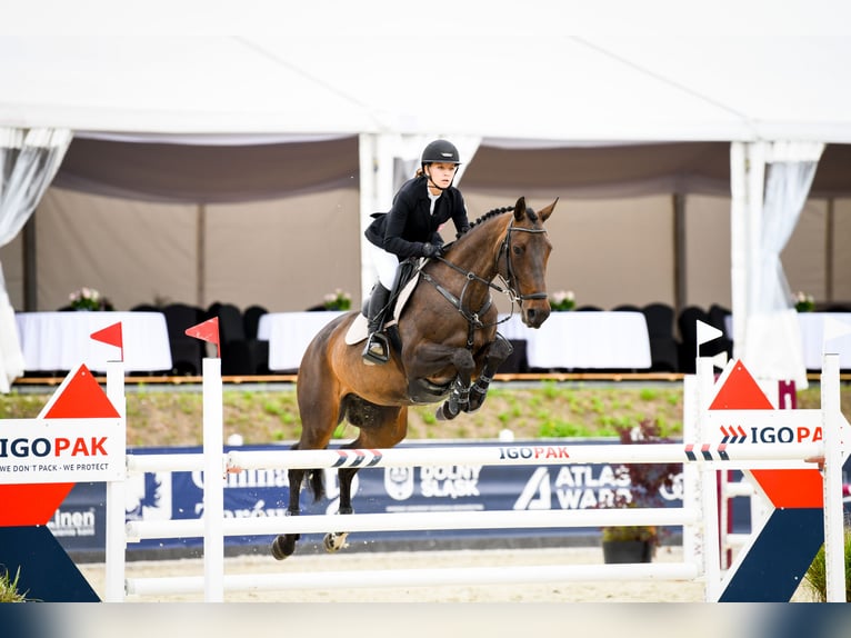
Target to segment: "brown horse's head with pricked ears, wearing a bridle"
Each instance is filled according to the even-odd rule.
[[[520,305],[523,323],[530,328],[539,328],[550,316],[545,278],[552,243],[543,222],[552,213],[557,201],[535,212],[527,208],[525,198],[521,197],[514,205],[514,216],[505,231],[504,259],[500,262],[500,270],[504,271],[501,275]]]

